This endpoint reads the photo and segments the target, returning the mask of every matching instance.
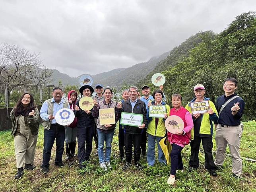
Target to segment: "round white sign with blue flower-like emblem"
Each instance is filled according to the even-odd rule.
[[[55,115],[56,122],[60,125],[69,125],[75,119],[75,114],[68,108],[60,109]]]

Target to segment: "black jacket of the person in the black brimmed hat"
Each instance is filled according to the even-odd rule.
[[[76,101],[76,105],[79,105],[79,101]],[[85,111],[80,109],[79,111],[74,110],[74,114],[77,117],[77,127],[93,127],[94,126],[94,117],[93,109],[90,110],[91,113],[87,114]]]

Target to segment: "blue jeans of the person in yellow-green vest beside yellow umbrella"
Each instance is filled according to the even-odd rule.
[[[166,165],[165,155],[159,145],[159,141],[162,138],[164,137],[153,136],[149,133],[147,134],[147,163],[149,166],[153,166],[155,163],[155,140],[157,140],[158,161],[159,163],[164,163]]]

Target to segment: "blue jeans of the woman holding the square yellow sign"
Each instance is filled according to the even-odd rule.
[[[110,161],[111,155],[111,144],[114,136],[114,129],[109,130],[107,132],[100,131],[97,129],[98,132],[98,155],[99,155],[99,163],[104,163]],[[106,151],[104,157],[104,142],[106,142]]]

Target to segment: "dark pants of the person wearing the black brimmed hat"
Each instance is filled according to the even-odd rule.
[[[81,165],[84,161],[87,161],[91,155],[91,149],[93,148],[93,133],[94,126],[91,127],[78,127],[78,161]],[[86,147],[85,147],[86,142]]]

